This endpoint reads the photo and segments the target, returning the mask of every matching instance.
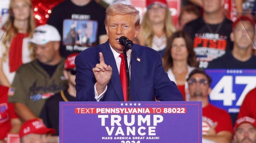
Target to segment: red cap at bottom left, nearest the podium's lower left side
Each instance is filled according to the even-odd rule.
[[[20,137],[25,135],[35,133],[35,134],[54,134],[56,132],[53,128],[47,128],[42,120],[39,119],[31,119],[26,121],[20,129]]]

